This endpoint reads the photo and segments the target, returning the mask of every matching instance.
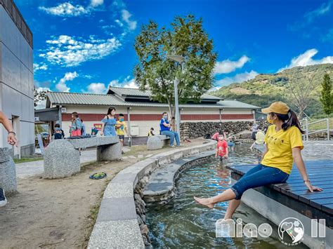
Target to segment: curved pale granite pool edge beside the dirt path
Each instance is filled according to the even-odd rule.
[[[88,248],[145,248],[145,236],[141,234],[136,207],[140,200],[135,201],[134,189],[142,194],[150,174],[159,166],[215,149],[216,141],[207,141],[205,144],[156,154],[120,171],[104,191]]]

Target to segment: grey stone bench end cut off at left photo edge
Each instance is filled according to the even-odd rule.
[[[0,187],[8,194],[17,190],[15,163],[8,148],[0,148]]]

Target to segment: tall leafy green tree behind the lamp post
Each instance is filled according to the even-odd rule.
[[[179,79],[179,102],[200,102],[203,93],[213,87],[212,71],[217,54],[213,41],[202,27],[202,19],[193,15],[176,17],[171,28],[159,28],[150,21],[136,36],[134,45],[138,64],[134,67],[136,83],[141,90],[150,90],[152,100],[167,102],[174,116],[174,79]],[[185,69],[167,55],[185,58]]]

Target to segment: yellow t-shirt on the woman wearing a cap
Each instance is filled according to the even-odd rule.
[[[302,135],[299,128],[292,126],[287,130],[276,132],[275,125],[269,126],[265,142],[268,146],[268,152],[263,157],[261,164],[273,168],[280,168],[283,172],[290,174],[292,172],[292,148],[300,147],[303,149]]]

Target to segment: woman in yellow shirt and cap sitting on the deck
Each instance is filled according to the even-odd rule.
[[[322,191],[320,187],[312,186],[308,180],[308,174],[301,156],[303,142],[299,120],[296,114],[289,109],[284,102],[274,102],[270,107],[261,109],[268,114],[267,120],[273,124],[268,127],[265,142],[266,149],[263,159],[258,166],[244,174],[238,182],[222,194],[211,198],[195,198],[198,203],[214,208],[214,205],[222,201],[230,201],[224,219],[231,219],[236,208],[240,205],[240,198],[247,189],[261,187],[267,184],[286,182],[295,161],[299,173],[303,177],[304,184],[312,191]]]

